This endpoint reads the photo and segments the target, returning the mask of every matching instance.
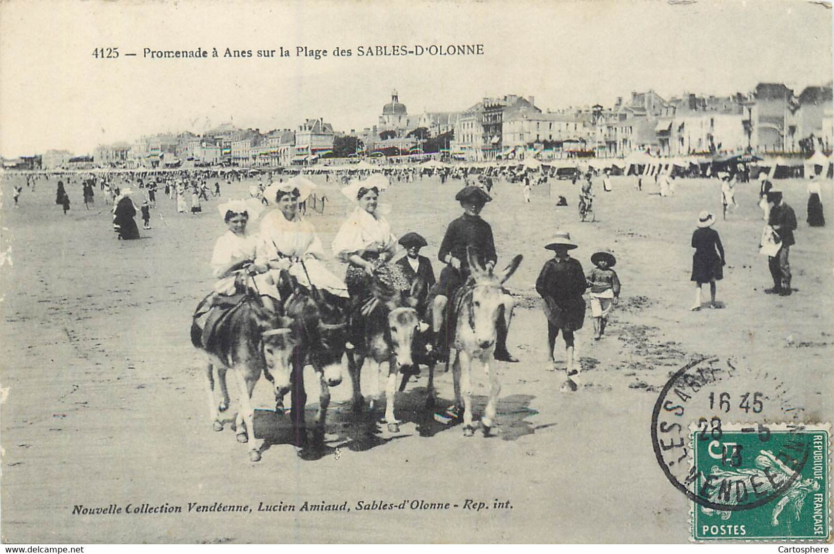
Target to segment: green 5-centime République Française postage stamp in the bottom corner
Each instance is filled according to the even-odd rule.
[[[830,425],[700,423],[687,479],[694,540],[828,540]]]

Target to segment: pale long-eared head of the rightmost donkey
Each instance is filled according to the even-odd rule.
[[[514,257],[507,267],[495,272],[493,267],[481,265],[472,248],[466,249],[466,255],[469,258],[470,272],[475,280],[475,287],[472,290],[468,312],[461,316],[467,317],[475,339],[474,346],[485,350],[495,345],[497,335],[495,326],[501,308],[512,302],[512,297],[504,291],[501,285],[518,269],[522,257],[521,255]]]

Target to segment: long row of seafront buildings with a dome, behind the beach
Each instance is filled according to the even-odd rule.
[[[781,83],[760,83],[728,97],[686,93],[668,100],[654,91],[632,92],[613,107],[599,104],[543,111],[535,97],[485,97],[461,112],[409,115],[396,91],[378,121],[362,131],[335,132],[324,118],[297,129],[240,129],[225,123],[202,135],[158,134],[100,146],[92,159],[67,151],[40,157],[44,169],[79,162],[99,167],[178,167],[183,164],[280,167],[316,162],[334,151],[337,137],[354,137],[357,156],[374,152],[430,152],[461,160],[627,157],[754,152],[829,153],[831,83],[806,87],[798,96]],[[344,152],[342,152],[344,154]],[[28,160],[29,158],[27,158]],[[7,164],[8,165],[8,164]]]

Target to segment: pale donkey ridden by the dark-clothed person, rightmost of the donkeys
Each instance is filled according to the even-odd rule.
[[[496,326],[501,308],[504,308],[505,314],[509,313],[514,302],[502,285],[518,269],[522,257],[521,255],[514,257],[507,267],[500,272],[494,272],[491,267],[485,268],[481,265],[471,248],[467,248],[466,256],[469,259],[472,282],[464,285],[466,288],[461,291],[463,297],[455,304],[457,313],[455,314],[455,339],[452,343],[452,347],[455,348],[455,359],[452,364],[455,405],[447,412],[457,417],[462,408],[464,436],[471,437],[475,434],[475,428],[472,426],[471,367],[472,362],[477,360],[484,366],[484,371],[490,378],[490,397],[486,402],[484,415],[480,418],[484,435],[488,437],[495,422],[498,394],[501,390],[498,375],[495,370],[490,371],[490,361],[495,352]],[[451,303],[447,309],[453,309]],[[426,402],[428,406],[435,403],[434,373],[435,364],[432,364],[429,367],[429,397]]]

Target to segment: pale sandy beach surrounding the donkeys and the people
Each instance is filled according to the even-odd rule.
[[[329,249],[351,206],[333,182],[312,178],[328,202],[309,221]],[[636,177],[613,177],[613,192],[595,191],[593,223],[579,222],[579,186],[570,181],[534,187],[530,203],[521,187],[500,182],[482,216],[495,232],[499,265],[518,253],[524,261],[506,283],[519,301],[508,343],[520,362],[495,364],[503,384],[497,435],[465,438],[460,427],[435,422],[423,407],[425,368],[400,393],[404,424],[391,434],[350,412],[345,372],[332,390],[321,457],[296,455],[285,422],[270,412],[269,387],[259,383],[256,434],[273,444],[258,463],[228,425],[212,430],[203,358],[188,338],[193,308],[212,284],[211,249],[225,231],[218,201],[203,202],[199,216],[178,214],[160,190],[153,229],[124,242],[98,188],[88,211],[73,177],[64,216],[56,182],[41,179],[35,192],[22,177],[0,182],[3,542],[686,542],[689,502],[664,477],[650,437],[651,410],[671,372],[696,357],[733,357],[752,376],[746,386],[761,385],[768,401],[793,408],[784,421],[834,416],[831,182],[822,186],[827,227],[805,222],[805,182],[777,183],[799,221],[791,247],[798,290],[790,297],[763,292],[772,283],[758,253],[757,182],[736,187],[739,207],[722,221],[717,179],[678,179],[676,194],[661,197],[649,178],[637,191]],[[15,184],[23,186],[18,207]],[[223,184],[223,198],[247,197],[250,184]],[[435,273],[445,227],[460,215],[461,186],[426,177],[394,182],[380,197],[398,236],[426,237],[421,253]],[[558,195],[570,205],[555,207]],[[726,250],[723,309],[690,312],[690,241],[701,210],[716,214]],[[591,340],[590,311],[577,333],[583,371],[580,390],[568,394],[559,390],[564,372],[545,370],[535,292],[551,254],[543,245],[556,229],[579,245],[571,255],[585,272],[591,253],[611,248],[622,282],[606,337]],[[329,265],[343,274],[338,262]],[[473,375],[480,413],[488,382],[483,372]],[[305,376],[314,391],[312,370]],[[438,382],[445,405],[451,373],[440,372]],[[229,384],[234,412],[238,394]],[[316,400],[310,394],[309,410]],[[359,501],[414,500],[458,508],[356,509]],[[488,508],[471,510],[467,500]],[[347,502],[351,511],[298,511],[322,501]],[[189,502],[251,512],[194,513]],[[144,503],[183,512],[73,515],[77,506]],[[259,512],[261,503],[296,511]]]

